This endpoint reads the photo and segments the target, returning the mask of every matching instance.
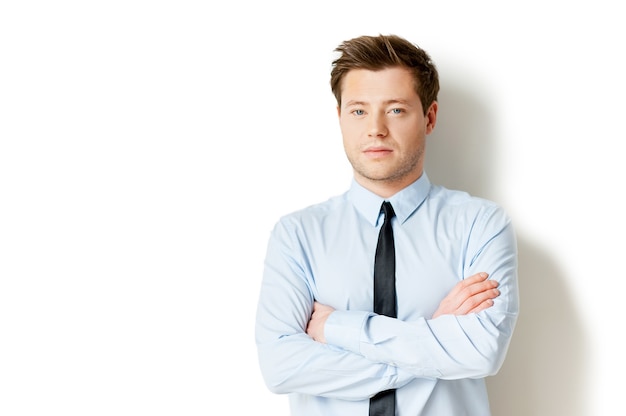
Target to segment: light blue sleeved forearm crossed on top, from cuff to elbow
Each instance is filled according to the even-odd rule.
[[[486,312],[413,322],[370,314],[355,337],[355,314],[334,312],[326,325],[327,341],[415,377],[492,375],[502,363],[510,338],[510,333],[489,322]]]

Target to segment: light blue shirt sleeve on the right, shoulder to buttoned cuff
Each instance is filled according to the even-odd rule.
[[[404,322],[358,311],[335,311],[324,327],[329,344],[416,377],[478,378],[501,367],[519,312],[516,238],[494,209],[479,218],[466,243],[465,276],[487,271],[499,282],[494,305],[477,314]]]

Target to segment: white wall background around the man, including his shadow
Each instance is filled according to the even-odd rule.
[[[0,414],[287,415],[254,313],[278,217],[343,192],[332,50],[442,82],[434,182],[493,199],[522,314],[494,416],[624,414],[618,2],[0,5]]]

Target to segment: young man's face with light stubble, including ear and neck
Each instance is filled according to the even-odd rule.
[[[422,175],[437,103],[424,115],[408,69],[351,70],[337,111],[344,149],[361,185],[388,197]]]

